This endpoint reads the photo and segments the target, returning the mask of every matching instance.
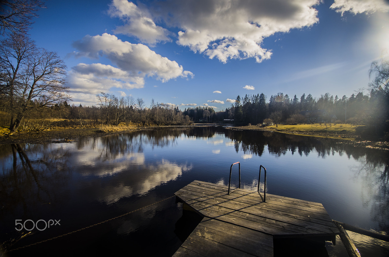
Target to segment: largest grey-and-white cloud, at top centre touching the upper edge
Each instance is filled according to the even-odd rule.
[[[275,33],[312,26],[320,0],[171,0],[159,3],[155,15],[178,27],[177,43],[193,52],[228,59],[270,59],[263,40]]]

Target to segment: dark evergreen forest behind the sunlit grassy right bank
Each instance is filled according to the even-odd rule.
[[[235,105],[231,105],[224,111],[224,119],[234,119],[236,124],[263,123],[270,119],[274,123],[304,123],[305,116],[302,111],[326,110],[328,116],[336,116],[342,123],[367,125],[369,123],[382,123],[387,119],[388,104],[386,97],[380,90],[371,89],[369,95],[363,92],[334,97],[329,93],[319,98],[303,94],[300,97],[294,95],[290,98],[282,92],[270,96],[266,102],[266,96],[245,95],[243,99],[237,96]],[[324,121],[323,121],[324,122]],[[330,122],[330,120],[328,121]]]

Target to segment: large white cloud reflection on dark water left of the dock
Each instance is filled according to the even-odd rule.
[[[152,139],[123,134],[82,141],[82,145],[69,156],[69,161],[77,163],[77,172],[82,176],[102,179],[99,182],[104,185],[95,187],[96,198],[108,204],[114,203],[123,197],[145,194],[191,170],[191,166],[165,159],[147,160],[141,145],[154,142]],[[165,135],[158,142],[174,140],[174,136]]]

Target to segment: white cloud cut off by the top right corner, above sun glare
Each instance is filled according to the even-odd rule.
[[[366,12],[388,12],[389,3],[384,0],[335,0],[329,7],[343,16],[344,12],[351,12],[354,15]]]

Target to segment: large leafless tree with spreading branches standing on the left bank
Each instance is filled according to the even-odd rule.
[[[0,45],[0,104],[11,113],[10,134],[31,109],[68,101],[66,65],[56,52],[38,48],[24,34],[14,33]]]

